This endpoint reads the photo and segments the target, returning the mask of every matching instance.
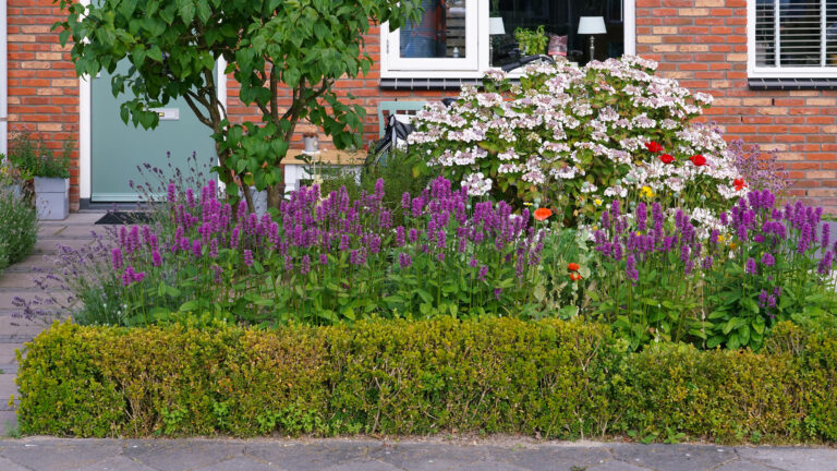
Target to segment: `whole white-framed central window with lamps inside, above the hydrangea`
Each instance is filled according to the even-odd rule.
[[[579,19],[591,15],[603,16],[606,25],[605,34],[595,35],[595,58],[619,57],[626,50],[624,3],[633,8],[633,0],[422,0],[418,23],[393,33],[381,27],[381,76],[480,77],[523,56],[515,29],[541,26],[548,38],[566,41],[571,61],[583,64],[590,36],[578,34]]]

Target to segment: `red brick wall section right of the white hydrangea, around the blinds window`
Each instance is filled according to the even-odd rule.
[[[778,149],[791,193],[837,210],[837,92],[749,89],[747,1],[636,0],[636,53],[714,95],[705,116],[728,140]]]

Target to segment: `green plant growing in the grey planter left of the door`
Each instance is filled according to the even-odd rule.
[[[32,177],[70,178],[70,153],[72,143],[64,142],[61,152],[47,147],[44,136],[21,131],[9,142],[9,162],[21,173],[23,180]]]

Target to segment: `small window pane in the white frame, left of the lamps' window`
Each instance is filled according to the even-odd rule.
[[[465,50],[465,0],[422,0],[417,24],[401,27],[402,58],[463,58]]]

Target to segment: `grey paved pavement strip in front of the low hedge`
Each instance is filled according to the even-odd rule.
[[[3,471],[834,471],[837,449],[380,440],[0,440]]]

